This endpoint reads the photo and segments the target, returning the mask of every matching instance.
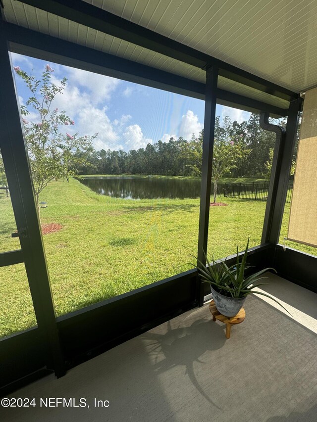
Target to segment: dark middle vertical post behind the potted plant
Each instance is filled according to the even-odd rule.
[[[207,253],[208,226],[211,195],[211,174],[214,124],[217,100],[218,68],[212,66],[206,71],[206,99],[204,118],[202,185],[200,195],[199,233],[198,233],[198,261],[206,265],[204,251]],[[198,266],[202,264],[197,263]],[[204,304],[204,289],[200,280],[197,280],[197,299],[199,306]]]

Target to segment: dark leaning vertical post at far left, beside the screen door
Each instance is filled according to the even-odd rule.
[[[0,16],[0,25],[1,25]],[[0,148],[11,201],[20,235],[25,269],[38,328],[45,339],[48,364],[57,376],[64,375],[64,358],[59,343],[51,285],[43,238],[35,202],[23,126],[15,90],[12,63],[5,33],[0,28]]]

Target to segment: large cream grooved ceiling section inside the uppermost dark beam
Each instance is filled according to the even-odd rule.
[[[317,85],[316,0],[84,0],[295,92]]]

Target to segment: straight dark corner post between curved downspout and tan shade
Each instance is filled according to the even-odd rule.
[[[300,96],[290,103],[284,141],[278,151],[274,175],[277,186],[272,199],[271,224],[266,239],[273,244],[279,241],[301,106],[302,98]]]

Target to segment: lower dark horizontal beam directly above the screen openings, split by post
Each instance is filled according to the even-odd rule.
[[[78,67],[90,72],[177,94],[205,99],[206,86],[201,82],[92,48],[79,46],[78,44],[60,40],[14,24],[3,23],[3,28],[7,39],[10,41],[10,50],[12,52],[50,60],[65,66]],[[220,89],[217,89],[217,103],[255,113],[260,113],[260,110],[264,110],[270,113],[271,117],[285,116],[288,111],[287,109]]]

